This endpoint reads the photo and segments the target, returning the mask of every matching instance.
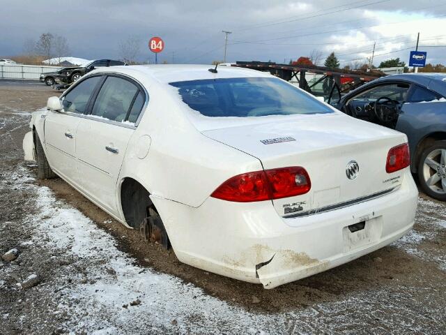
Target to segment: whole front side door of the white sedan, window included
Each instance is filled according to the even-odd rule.
[[[63,110],[48,111],[45,117],[45,147],[47,159],[54,172],[72,184],[79,184],[76,169],[76,132],[81,116],[87,110],[89,101],[101,77],[89,77],[79,82],[63,95]]]

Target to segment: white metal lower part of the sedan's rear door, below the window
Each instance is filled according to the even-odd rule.
[[[82,189],[116,214],[116,182],[133,129],[82,119],[77,128],[77,171]]]

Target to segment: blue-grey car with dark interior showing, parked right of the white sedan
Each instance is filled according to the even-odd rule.
[[[337,107],[348,115],[405,133],[410,170],[424,193],[446,201],[446,74],[382,77],[346,94]]]

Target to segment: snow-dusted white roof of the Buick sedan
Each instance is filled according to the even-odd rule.
[[[211,73],[210,68],[215,65],[180,65],[180,64],[158,64],[158,65],[130,65],[112,66],[102,68],[103,71],[123,73],[128,75],[140,75],[151,77],[157,82],[168,84],[169,82],[183,82],[190,80],[205,80],[216,78],[233,77],[270,77],[270,73],[258,70],[238,68],[236,66],[217,66],[217,73]],[[98,70],[100,72],[100,70]]]

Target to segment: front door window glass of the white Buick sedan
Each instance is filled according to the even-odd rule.
[[[86,112],[90,96],[101,78],[101,76],[91,77],[77,84],[76,87],[63,97],[63,110],[78,114]]]

